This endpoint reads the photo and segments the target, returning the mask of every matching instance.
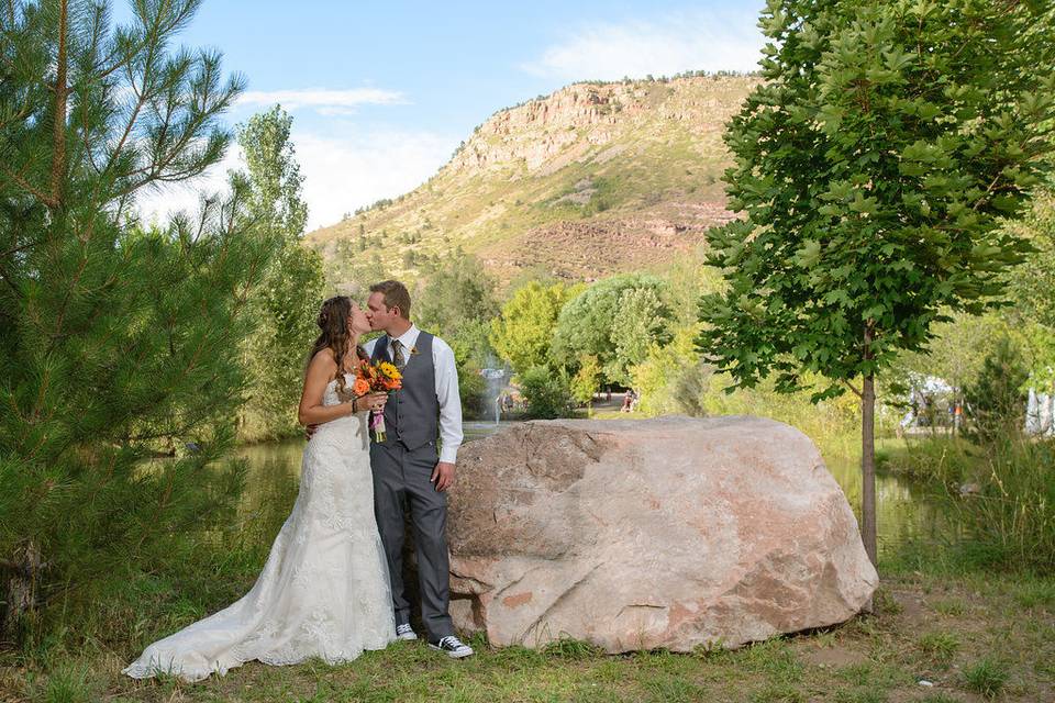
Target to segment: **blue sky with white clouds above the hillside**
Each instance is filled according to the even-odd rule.
[[[122,0],[115,18],[127,16]],[[577,80],[751,70],[760,1],[337,2],[206,0],[180,35],[248,81],[232,124],[275,102],[293,115],[309,228],[424,181],[473,127]],[[188,207],[192,188],[144,201]]]

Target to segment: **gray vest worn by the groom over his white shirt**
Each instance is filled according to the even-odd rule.
[[[440,436],[440,400],[436,398],[436,369],[432,361],[432,339],[427,332],[418,333],[415,353],[403,349],[403,387],[392,393],[385,404],[385,444],[399,442],[413,451]],[[374,345],[371,359],[391,361],[388,335]]]

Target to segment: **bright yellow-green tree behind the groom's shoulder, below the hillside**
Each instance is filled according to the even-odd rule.
[[[492,323],[489,339],[495,350],[518,373],[547,364],[560,309],[578,292],[537,280],[517,288]]]

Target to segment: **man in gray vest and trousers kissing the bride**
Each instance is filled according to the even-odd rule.
[[[403,585],[403,502],[410,503],[418,556],[421,618],[429,646],[460,659],[473,654],[454,634],[447,613],[447,496],[462,444],[462,401],[454,352],[410,321],[410,293],[399,281],[370,287],[367,317],[385,334],[366,345],[375,364],[390,361],[403,375],[402,389],[385,405],[385,442],[370,442],[374,512],[388,558],[396,635],[417,639]],[[440,440],[437,448],[436,442]]]

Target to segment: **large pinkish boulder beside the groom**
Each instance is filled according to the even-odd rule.
[[[499,646],[738,647],[878,583],[817,447],[760,417],[512,426],[462,449],[447,537],[455,625]]]

